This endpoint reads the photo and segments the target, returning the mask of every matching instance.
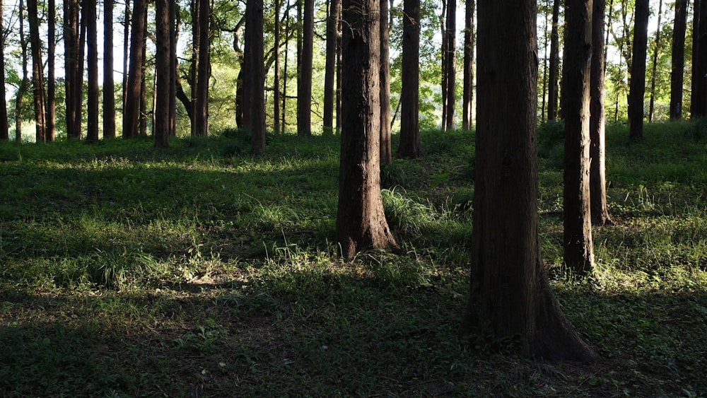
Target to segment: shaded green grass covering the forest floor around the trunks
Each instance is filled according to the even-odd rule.
[[[609,126],[616,225],[588,280],[561,260],[561,124],[541,128],[540,238],[600,360],[544,363],[456,330],[473,134],[423,133],[382,170],[405,254],[341,262],[337,137],[0,143],[0,396],[707,395],[707,138]],[[397,139],[397,136],[394,137]],[[394,142],[395,145],[395,142]]]

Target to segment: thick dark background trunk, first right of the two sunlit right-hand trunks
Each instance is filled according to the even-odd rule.
[[[645,95],[645,57],[648,52],[648,0],[636,0],[633,16],[633,55],[629,85],[629,137],[643,139],[643,96]]]

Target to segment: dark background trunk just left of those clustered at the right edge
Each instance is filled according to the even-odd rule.
[[[675,1],[675,22],[672,30],[672,71],[670,71],[670,119],[682,119],[682,85],[685,75],[685,32],[687,30],[687,0]]]

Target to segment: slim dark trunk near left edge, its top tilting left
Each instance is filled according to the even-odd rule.
[[[37,142],[45,142],[47,141],[47,112],[37,0],[27,0],[27,17],[30,23],[30,48],[32,49],[32,93],[35,101],[36,138]]]

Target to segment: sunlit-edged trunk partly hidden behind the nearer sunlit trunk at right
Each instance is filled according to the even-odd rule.
[[[592,224],[612,223],[607,206],[604,122],[604,0],[594,0],[592,13],[592,77],[590,81],[590,207]]]

